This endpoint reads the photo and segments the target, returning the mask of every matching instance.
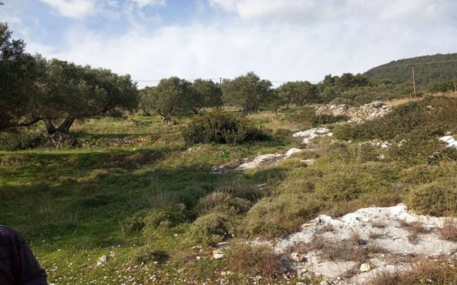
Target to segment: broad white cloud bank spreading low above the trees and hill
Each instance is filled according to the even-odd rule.
[[[216,5],[215,2],[222,0],[212,1]],[[297,3],[296,9],[287,11],[280,1],[265,1],[272,5],[260,12],[237,6],[245,9],[243,15],[258,15],[250,18],[239,16],[229,22],[218,19],[205,25],[193,22],[186,26],[161,26],[153,32],[148,24],[141,26],[138,22],[130,32],[117,37],[72,29],[64,40],[66,46],[61,49],[32,43],[29,50],[129,73],[136,80],[157,80],[171,75],[186,79],[233,78],[252,70],[273,81],[318,81],[325,74],[364,72],[394,59],[456,52],[453,2],[434,5],[428,0],[416,0],[418,7],[413,9],[406,5],[410,0],[400,1],[404,5],[386,1],[385,7],[376,9],[371,1],[363,7],[354,4],[360,0],[346,0],[337,7],[312,8],[309,5],[317,2],[308,1],[307,8],[303,1],[291,0],[290,3]],[[258,2],[233,0],[233,3]],[[298,11],[297,7],[303,9]],[[296,16],[291,21],[293,15],[305,14],[307,19]]]

